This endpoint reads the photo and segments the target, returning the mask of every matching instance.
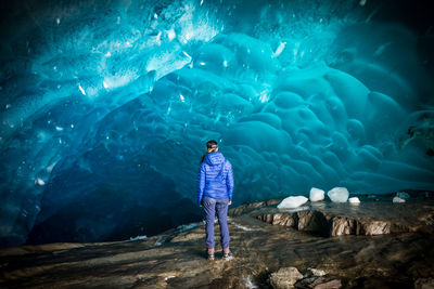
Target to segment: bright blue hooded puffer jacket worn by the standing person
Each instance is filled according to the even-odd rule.
[[[202,203],[204,196],[232,200],[232,165],[225,159],[221,153],[206,154],[197,178],[197,203]]]

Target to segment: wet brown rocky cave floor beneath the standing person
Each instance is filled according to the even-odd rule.
[[[229,261],[206,260],[200,223],[137,241],[1,249],[0,287],[434,288],[433,200],[277,202],[230,210]]]

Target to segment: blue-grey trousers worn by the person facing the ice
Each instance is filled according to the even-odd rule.
[[[221,248],[229,248],[228,229],[228,201],[229,199],[203,198],[203,208],[206,214],[206,247],[214,248],[214,219],[217,212],[218,223],[220,225]]]

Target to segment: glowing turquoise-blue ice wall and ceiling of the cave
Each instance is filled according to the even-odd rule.
[[[210,139],[233,165],[235,203],[312,186],[434,189],[433,31],[397,11],[369,0],[11,4],[0,244],[197,220]]]

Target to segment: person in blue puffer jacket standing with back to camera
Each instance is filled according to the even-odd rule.
[[[212,140],[206,143],[206,154],[201,159],[197,178],[197,205],[205,211],[205,233],[208,260],[214,260],[214,220],[217,213],[220,226],[221,248],[225,260],[232,254],[229,250],[228,206],[232,203],[233,173],[232,165],[221,153],[218,144]]]

